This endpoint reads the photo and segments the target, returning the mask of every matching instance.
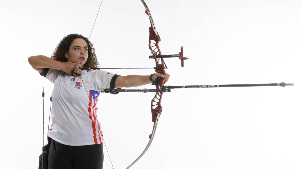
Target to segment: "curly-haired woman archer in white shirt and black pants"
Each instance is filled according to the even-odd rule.
[[[53,124],[47,133],[49,169],[102,168],[103,134],[96,106],[99,90],[142,86],[157,77],[164,78],[166,83],[169,78],[167,73],[120,76],[101,70],[82,70],[98,68],[98,61],[92,43],[78,34],[64,37],[51,58],[31,56],[28,62],[54,83]]]

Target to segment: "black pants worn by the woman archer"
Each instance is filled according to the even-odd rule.
[[[102,144],[67,146],[51,140],[48,155],[49,169],[102,169]]]

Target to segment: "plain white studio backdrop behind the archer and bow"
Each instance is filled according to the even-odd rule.
[[[132,166],[301,168],[299,0],[146,0],[171,77],[167,85],[294,83],[293,87],[173,89],[164,93],[156,136]],[[28,64],[50,57],[70,33],[89,37],[101,1],[3,1],[0,168],[37,168],[53,84]],[[90,41],[101,67],[153,67],[149,19],[139,0],[104,0]],[[108,70],[150,75],[151,69]],[[154,88],[152,85],[140,88]],[[151,134],[154,93],[101,94],[98,118],[115,169],[126,168]],[[45,132],[46,135],[46,132]],[[112,168],[104,150],[104,168]]]

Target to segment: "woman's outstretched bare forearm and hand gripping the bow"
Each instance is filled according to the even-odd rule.
[[[163,83],[166,83],[169,78],[169,74],[165,73],[165,75],[160,73],[155,73],[152,76],[152,80],[154,81],[157,77],[164,78]],[[143,86],[145,84],[150,84],[150,76],[141,76],[141,75],[127,75],[127,76],[118,76],[115,81],[115,88],[131,88],[137,86]]]

